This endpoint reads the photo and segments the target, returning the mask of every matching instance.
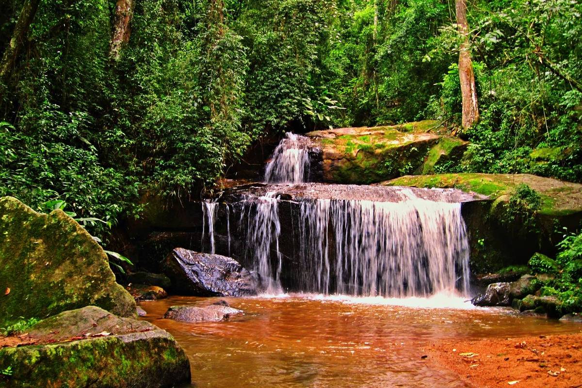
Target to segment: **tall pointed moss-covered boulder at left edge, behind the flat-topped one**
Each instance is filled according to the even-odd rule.
[[[0,327],[87,305],[136,314],[107,255],[79,223],[61,210],[37,213],[12,197],[0,198],[0,288]]]

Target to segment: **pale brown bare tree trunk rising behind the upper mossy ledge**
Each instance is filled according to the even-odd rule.
[[[457,27],[463,42],[459,51],[459,79],[463,97],[463,128],[467,129],[479,120],[475,74],[469,51],[469,24],[467,23],[466,0],[455,0]]]

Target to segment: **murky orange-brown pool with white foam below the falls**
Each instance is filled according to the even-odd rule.
[[[163,319],[172,305],[220,299],[245,315],[207,323]],[[448,307],[429,307],[435,305]],[[580,331],[574,323],[438,297],[170,297],[141,307],[145,319],[172,333],[186,351],[191,386],[212,388],[467,387],[454,373],[422,359],[419,347],[438,340]]]

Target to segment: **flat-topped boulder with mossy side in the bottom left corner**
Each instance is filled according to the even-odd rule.
[[[45,319],[29,336],[44,344],[0,350],[0,370],[12,368],[2,386],[162,388],[190,382],[188,358],[168,332],[98,307]]]

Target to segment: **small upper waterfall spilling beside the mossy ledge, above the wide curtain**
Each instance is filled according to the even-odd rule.
[[[267,183],[300,183],[309,170],[310,141],[307,137],[286,133],[265,166]]]

